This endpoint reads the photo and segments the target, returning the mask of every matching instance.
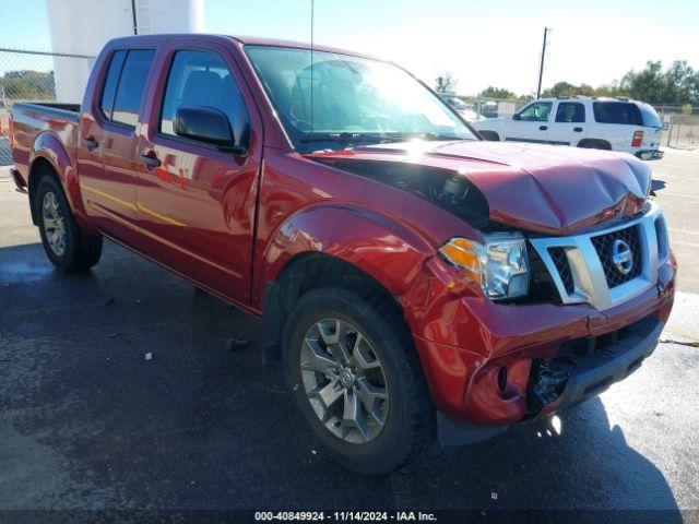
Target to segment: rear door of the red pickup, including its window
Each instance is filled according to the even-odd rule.
[[[154,57],[154,49],[114,51],[96,107],[81,121],[78,157],[85,210],[103,233],[133,248],[140,238],[135,129]]]

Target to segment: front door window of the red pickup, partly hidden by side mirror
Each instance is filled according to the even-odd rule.
[[[159,131],[175,136],[179,107],[211,107],[228,117],[237,144],[249,132],[249,116],[240,90],[226,62],[213,52],[177,51],[165,88]]]

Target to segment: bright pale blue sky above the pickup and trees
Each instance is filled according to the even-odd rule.
[[[95,0],[109,1],[109,0]],[[50,49],[45,0],[0,0],[0,46]],[[310,0],[205,0],[206,31],[308,40]],[[458,92],[535,88],[544,26],[554,28],[544,86],[618,80],[647,60],[699,69],[698,0],[316,0],[316,41],[391,59]]]

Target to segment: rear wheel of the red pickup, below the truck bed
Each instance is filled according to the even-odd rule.
[[[61,273],[87,271],[99,262],[102,237],[80,228],[56,178],[45,175],[38,181],[35,199],[44,251]]]

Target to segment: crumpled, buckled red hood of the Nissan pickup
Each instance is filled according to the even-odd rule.
[[[556,235],[635,215],[651,183],[649,167],[632,155],[538,144],[420,142],[309,156],[450,169],[484,194],[491,219]]]

